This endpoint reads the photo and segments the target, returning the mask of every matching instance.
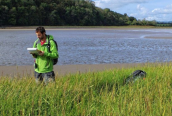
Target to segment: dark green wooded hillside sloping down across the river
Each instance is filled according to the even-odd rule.
[[[156,25],[95,6],[92,0],[0,0],[0,26]]]

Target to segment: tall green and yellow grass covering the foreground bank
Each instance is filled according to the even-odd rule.
[[[128,85],[134,70],[145,80]],[[172,112],[172,64],[67,75],[47,86],[33,77],[0,79],[0,115],[169,115]]]

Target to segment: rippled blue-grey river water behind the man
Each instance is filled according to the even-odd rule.
[[[58,65],[172,61],[172,29],[47,30],[59,46]],[[0,30],[0,65],[32,65],[34,30]]]

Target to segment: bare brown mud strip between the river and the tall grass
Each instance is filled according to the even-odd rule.
[[[81,64],[81,65],[55,65],[54,72],[57,77],[75,73],[97,72],[111,69],[131,68],[144,66],[145,63],[122,63],[122,64]],[[0,66],[0,77],[24,77],[33,76],[34,67],[28,66]]]

